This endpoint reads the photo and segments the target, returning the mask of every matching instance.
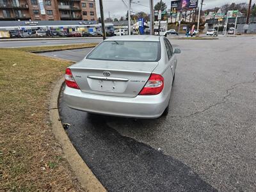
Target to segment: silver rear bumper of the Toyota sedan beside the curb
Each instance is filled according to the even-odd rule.
[[[168,106],[170,94],[116,97],[84,93],[66,86],[63,98],[70,108],[90,113],[132,118],[157,118]]]

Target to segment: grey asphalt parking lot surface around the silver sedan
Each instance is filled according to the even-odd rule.
[[[256,191],[256,38],[171,43],[182,54],[169,115],[90,115],[60,97],[74,147],[109,191]]]

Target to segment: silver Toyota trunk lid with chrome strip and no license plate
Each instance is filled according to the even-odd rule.
[[[82,92],[136,97],[158,62],[82,60],[70,67]]]

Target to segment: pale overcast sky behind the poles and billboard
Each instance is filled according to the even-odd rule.
[[[99,0],[96,1],[96,8],[97,8],[97,17],[100,17],[100,9],[99,9]],[[120,18],[121,16],[125,16],[127,13],[127,7],[125,6],[124,2],[128,2],[129,0],[102,0],[104,6],[104,17],[105,19],[108,18],[108,14],[110,14],[111,18]],[[135,13],[138,12],[146,12],[149,13],[149,0],[132,0],[132,11]],[[160,0],[154,0],[156,4]],[[163,0],[164,3],[168,5],[168,9],[171,7],[172,0]],[[200,3],[201,0],[198,0]],[[204,0],[203,9],[207,8],[214,8],[216,6],[221,6],[225,3],[248,3],[249,0]],[[256,3],[256,0],[252,0],[252,4]]]

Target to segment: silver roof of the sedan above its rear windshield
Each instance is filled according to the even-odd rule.
[[[122,35],[112,36],[107,38],[105,41],[148,41],[148,42],[159,42],[160,37],[156,35]]]

